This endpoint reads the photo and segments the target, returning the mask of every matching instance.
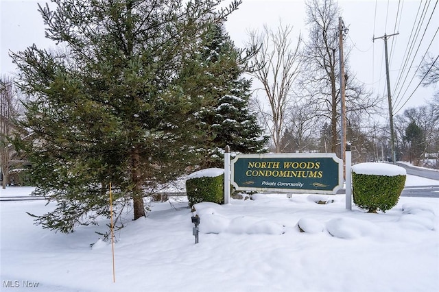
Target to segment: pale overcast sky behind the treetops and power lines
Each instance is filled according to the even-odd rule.
[[[46,1],[0,1],[0,68],[2,74],[12,74],[15,69],[8,51],[21,51],[33,43],[37,47],[54,47],[54,43],[44,38],[43,21],[37,12],[37,3]],[[435,58],[439,55],[438,1],[345,0],[338,4],[342,9],[340,16],[349,27],[345,54],[349,54],[356,78],[373,88],[374,93],[386,96],[384,41],[374,42],[372,38],[399,32],[388,40],[394,113],[401,114],[404,108],[431,99],[434,88],[419,86],[415,90],[420,83],[416,69],[427,51]],[[279,20],[294,26],[294,38],[299,32],[307,38],[305,1],[299,0],[243,0],[239,10],[229,16],[226,28],[235,45],[244,47],[248,29],[261,29],[264,24],[275,29]]]

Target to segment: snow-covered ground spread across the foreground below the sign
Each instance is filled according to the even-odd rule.
[[[407,175],[406,186],[429,184],[439,181]],[[316,204],[321,199],[329,204]],[[346,210],[344,199],[280,194],[202,203],[196,245],[186,199],[153,203],[147,218],[115,234],[115,282],[112,245],[95,233],[107,221],[56,234],[26,214],[51,205],[0,202],[0,290],[438,291],[439,198],[401,197],[379,214]]]

